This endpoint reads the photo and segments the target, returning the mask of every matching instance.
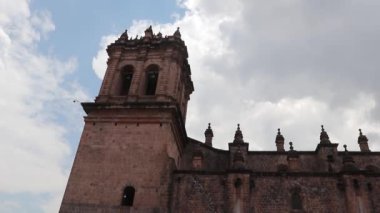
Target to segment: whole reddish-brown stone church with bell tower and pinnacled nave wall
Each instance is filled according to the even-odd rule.
[[[186,133],[194,86],[179,29],[125,31],[107,53],[61,213],[380,212],[380,152],[361,130],[360,151],[338,151],[323,126],[315,150],[288,148],[278,129],[275,151],[251,151],[237,125],[217,149],[210,124],[204,141]]]

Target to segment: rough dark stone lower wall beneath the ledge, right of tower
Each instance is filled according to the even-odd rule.
[[[354,179],[359,188],[352,184]],[[340,180],[346,181],[344,187],[339,186]],[[376,180],[357,175],[177,171],[171,208],[172,212],[197,213],[378,212]],[[301,209],[293,209],[293,193],[299,194]]]

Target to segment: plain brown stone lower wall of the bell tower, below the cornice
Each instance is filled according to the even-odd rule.
[[[112,121],[99,112],[86,118],[61,212],[121,208],[126,186],[136,190],[131,211],[167,211],[179,159],[171,113],[161,111],[161,122],[151,117],[133,123],[128,114],[121,111]]]

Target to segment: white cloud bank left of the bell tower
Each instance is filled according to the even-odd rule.
[[[65,82],[75,59],[60,61],[37,51],[55,27],[47,11],[31,12],[29,3],[0,0],[0,193],[41,195],[41,208],[57,212],[71,154],[65,138],[71,124],[63,123],[80,119],[72,100],[86,95]],[[0,204],[1,212],[18,208],[24,207],[17,201]]]

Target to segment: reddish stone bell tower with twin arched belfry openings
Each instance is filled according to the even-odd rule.
[[[179,30],[129,38],[107,48],[109,59],[87,113],[60,212],[169,212],[172,171],[187,140],[193,92]]]

